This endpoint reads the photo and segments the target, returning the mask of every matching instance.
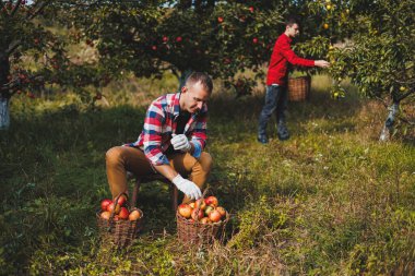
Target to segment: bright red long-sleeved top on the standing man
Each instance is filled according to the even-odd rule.
[[[285,85],[287,77],[287,62],[294,65],[313,67],[315,61],[297,57],[290,47],[292,38],[282,34],[275,41],[268,68],[266,85],[276,83]]]

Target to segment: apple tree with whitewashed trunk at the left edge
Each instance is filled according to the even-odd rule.
[[[84,1],[0,0],[0,130],[10,124],[13,95],[35,98],[46,85],[94,84],[96,67],[75,64],[67,57],[67,40],[54,32],[62,9]],[[64,17],[60,19],[64,21]]]

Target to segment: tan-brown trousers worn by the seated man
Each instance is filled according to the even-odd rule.
[[[188,153],[167,155],[167,159],[180,176],[188,176],[190,181],[193,181],[200,189],[203,188],[212,167],[212,157],[209,153],[202,152],[199,159]],[[110,148],[106,154],[106,165],[112,199],[121,192],[128,193],[127,171],[131,171],[138,177],[155,173],[144,153],[135,147],[115,146]],[[185,196],[183,203],[189,201]]]

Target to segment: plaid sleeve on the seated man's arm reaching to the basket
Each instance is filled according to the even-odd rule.
[[[165,121],[163,108],[152,103],[147,109],[143,128],[144,154],[152,165],[169,165],[166,155],[162,152],[162,125]]]

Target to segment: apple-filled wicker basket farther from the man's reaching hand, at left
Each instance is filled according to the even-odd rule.
[[[104,200],[96,213],[100,237],[118,248],[130,245],[143,224],[143,212],[137,207],[129,209],[127,199],[127,194],[121,193],[114,202]]]

